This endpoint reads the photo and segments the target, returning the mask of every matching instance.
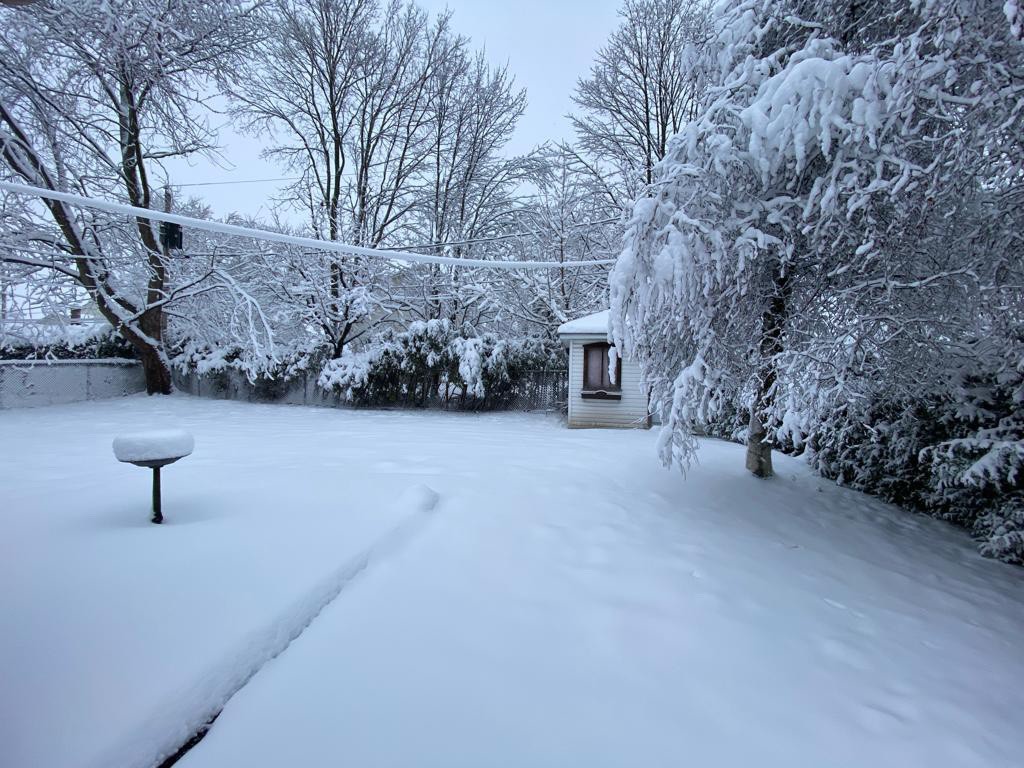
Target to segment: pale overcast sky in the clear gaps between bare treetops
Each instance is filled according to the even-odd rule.
[[[620,0],[419,0],[432,14],[449,7],[455,30],[485,48],[492,63],[508,62],[528,104],[508,146],[509,154],[529,151],[548,140],[570,138],[565,119],[572,108],[577,79],[590,71],[595,51],[614,29]],[[196,184],[272,178],[285,175],[260,160],[260,141],[240,136],[229,126],[220,129],[219,168],[204,159],[169,166],[171,182]],[[214,214],[265,215],[279,182],[185,186],[213,206]]]

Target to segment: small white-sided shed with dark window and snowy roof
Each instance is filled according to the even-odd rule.
[[[649,427],[647,394],[640,369],[608,343],[608,310],[558,327],[569,348],[569,427]],[[609,357],[615,361],[614,380]]]

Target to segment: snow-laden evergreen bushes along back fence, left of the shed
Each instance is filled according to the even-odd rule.
[[[524,374],[559,362],[540,340],[499,339],[434,319],[384,331],[364,349],[329,361],[319,386],[359,406],[492,410],[511,402]]]

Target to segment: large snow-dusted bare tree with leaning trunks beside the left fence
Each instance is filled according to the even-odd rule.
[[[0,150],[9,174],[160,206],[160,163],[213,145],[198,94],[247,43],[251,11],[247,2],[198,0],[48,0],[0,10]],[[81,286],[138,352],[147,390],[169,392],[164,310],[175,291],[154,222],[139,217],[132,231],[43,199],[5,227],[0,258]]]

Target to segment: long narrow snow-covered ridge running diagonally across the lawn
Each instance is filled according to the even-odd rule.
[[[94,763],[95,768],[111,765],[155,768],[174,755],[206,728],[257,672],[287,650],[349,584],[415,539],[432,517],[438,499],[436,492],[423,484],[407,489],[396,501],[398,507],[411,510],[406,519],[345,561],[291,609],[250,634],[223,664],[209,670],[174,700],[166,701],[147,718],[144,726]],[[176,727],[169,731],[168,723],[175,723]]]

